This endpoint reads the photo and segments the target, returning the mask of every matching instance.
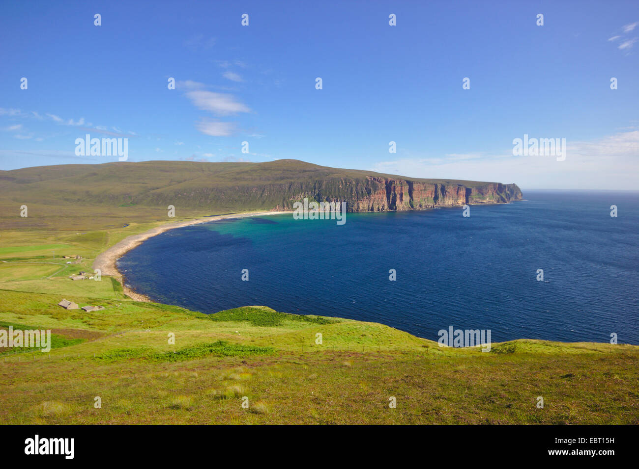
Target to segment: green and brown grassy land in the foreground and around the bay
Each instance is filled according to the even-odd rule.
[[[2,424],[639,423],[637,346],[520,340],[483,353],[265,306],[204,315],[135,302],[107,276],[68,277],[93,275],[98,253],[166,212],[32,205],[0,228],[0,329],[50,329],[52,349],[0,351]],[[66,310],[63,298],[105,309]]]

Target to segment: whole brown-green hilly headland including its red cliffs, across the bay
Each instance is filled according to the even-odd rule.
[[[80,183],[81,181],[81,183]],[[0,197],[57,206],[162,207],[223,213],[291,210],[305,197],[346,202],[350,212],[380,212],[504,204],[521,200],[515,184],[411,179],[399,175],[328,168],[304,161],[196,163],[115,162],[12,170],[0,175]],[[0,200],[1,202],[1,200]],[[0,204],[1,205],[1,204]]]

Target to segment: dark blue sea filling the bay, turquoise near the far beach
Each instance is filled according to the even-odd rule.
[[[524,197],[472,205],[468,218],[456,208],[348,213],[341,226],[291,214],[213,221],[148,239],[118,265],[138,292],[203,313],[265,305],[433,340],[452,325],[490,329],[493,342],[614,332],[639,345],[639,192]]]

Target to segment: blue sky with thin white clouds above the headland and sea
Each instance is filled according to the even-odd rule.
[[[0,8],[3,170],[116,161],[75,155],[89,133],[128,138],[131,164],[295,158],[522,188],[639,189],[636,1]],[[513,156],[524,134],[566,138],[566,160]]]

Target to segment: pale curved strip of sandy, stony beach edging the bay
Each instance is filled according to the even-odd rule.
[[[219,215],[219,216],[209,216],[206,218],[196,218],[195,220],[189,221],[176,221],[174,223],[167,223],[166,225],[160,225],[159,227],[151,228],[144,233],[135,234],[127,236],[122,241],[118,242],[111,246],[111,248],[107,249],[103,253],[98,254],[98,256],[93,261],[93,269],[100,269],[102,275],[110,275],[118,279],[119,283],[122,284],[122,288],[124,289],[125,295],[134,299],[135,301],[151,301],[145,295],[141,295],[139,293],[134,292],[130,288],[125,287],[124,279],[120,271],[118,271],[118,267],[116,266],[116,261],[125,255],[128,251],[139,246],[142,242],[147,239],[157,236],[158,234],[162,234],[166,231],[173,230],[174,228],[188,227],[190,225],[198,225],[199,223],[206,223],[208,221],[215,220],[225,220],[228,218],[246,218],[249,216],[266,216],[266,215],[281,215],[285,213],[293,213],[293,212],[278,212],[278,211],[268,211],[268,212],[242,212],[242,213],[234,213],[227,215]]]

